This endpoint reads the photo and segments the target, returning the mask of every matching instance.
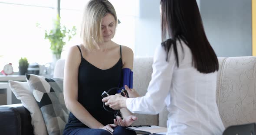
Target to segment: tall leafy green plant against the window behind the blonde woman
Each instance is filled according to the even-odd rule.
[[[60,24],[60,17],[54,22],[54,27],[51,30],[45,31],[45,39],[51,42],[50,49],[55,55],[56,59],[59,59],[62,53],[63,46],[66,45],[66,41],[69,41],[76,34],[75,26],[72,29],[67,29],[66,26]]]

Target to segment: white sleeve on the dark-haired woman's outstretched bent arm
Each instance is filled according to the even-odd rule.
[[[132,113],[158,114],[164,109],[164,100],[171,88],[171,80],[176,60],[174,51],[169,51],[169,61],[166,61],[166,52],[158,45],[154,53],[153,73],[145,96],[128,98],[126,106]]]

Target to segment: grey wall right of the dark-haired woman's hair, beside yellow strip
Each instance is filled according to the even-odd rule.
[[[207,38],[218,57],[252,55],[251,0],[201,0]]]

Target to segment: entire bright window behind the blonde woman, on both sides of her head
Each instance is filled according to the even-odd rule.
[[[89,0],[61,0],[61,23],[67,28],[76,26],[77,34],[66,42],[61,58],[71,45],[81,43],[80,24],[82,11]],[[113,39],[134,50],[135,5],[138,0],[109,0],[117,11],[121,23]],[[8,63],[18,72],[20,57],[29,63],[44,65],[52,61],[50,42],[44,39],[44,30],[51,29],[56,18],[56,0],[0,0],[0,70]],[[39,23],[41,29],[36,26]]]

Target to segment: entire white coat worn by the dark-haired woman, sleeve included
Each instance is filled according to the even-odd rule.
[[[222,135],[223,123],[216,103],[217,72],[202,74],[192,66],[192,53],[177,42],[179,67],[173,48],[158,45],[152,79],[145,96],[128,98],[132,113],[158,114],[167,106],[167,135]]]

